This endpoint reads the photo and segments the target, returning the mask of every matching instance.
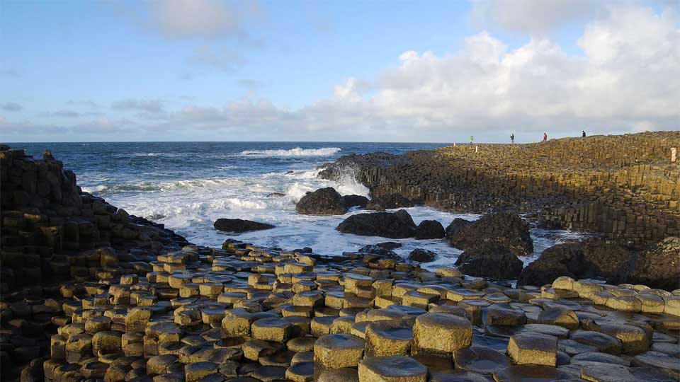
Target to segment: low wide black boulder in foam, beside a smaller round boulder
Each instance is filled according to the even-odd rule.
[[[385,238],[410,238],[416,233],[416,224],[403,209],[397,212],[374,212],[349,216],[336,230],[361,236]]]

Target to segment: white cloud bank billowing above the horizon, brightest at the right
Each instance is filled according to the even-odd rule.
[[[521,30],[520,21],[531,18],[495,13],[487,3],[479,6],[494,18],[502,16],[497,22],[506,28]],[[508,4],[494,3],[501,9]],[[563,6],[581,3],[549,4],[555,9],[546,17],[559,18]],[[573,10],[573,17],[579,12]],[[205,29],[181,23],[174,28],[191,34],[230,28],[211,23],[200,27]],[[112,106],[157,115],[150,122],[126,120],[126,128],[135,126],[132,132],[213,132],[221,140],[465,141],[474,134],[475,141],[506,141],[514,132],[518,141],[537,141],[543,131],[559,137],[582,129],[589,134],[680,129],[676,11],[655,13],[631,4],[603,8],[578,38],[582,52],[576,54],[548,37],[551,22],[541,23],[525,25],[531,40],[516,49],[482,32],[465,38],[458,52],[404,52],[374,78],[347,79],[327,98],[295,110],[248,97],[221,107],[188,104],[176,110],[165,110],[159,100]],[[67,129],[112,131],[113,121]],[[0,130],[11,128],[0,123]]]

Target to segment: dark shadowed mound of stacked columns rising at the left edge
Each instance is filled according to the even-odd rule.
[[[186,239],[162,224],[81,192],[76,175],[49,151],[42,159],[0,145],[1,291],[86,279],[106,265],[115,273],[123,257],[149,267],[161,250]],[[102,255],[104,253],[104,255]]]

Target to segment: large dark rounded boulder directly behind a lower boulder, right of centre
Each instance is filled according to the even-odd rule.
[[[455,248],[469,250],[482,243],[499,243],[517,256],[533,252],[529,226],[517,214],[498,212],[486,214],[457,231],[452,228],[450,243]]]

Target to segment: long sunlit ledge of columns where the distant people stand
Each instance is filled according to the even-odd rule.
[[[373,197],[400,194],[450,212],[509,211],[540,226],[595,231],[642,248],[680,236],[680,132],[460,144],[351,155],[322,178],[353,173]]]

